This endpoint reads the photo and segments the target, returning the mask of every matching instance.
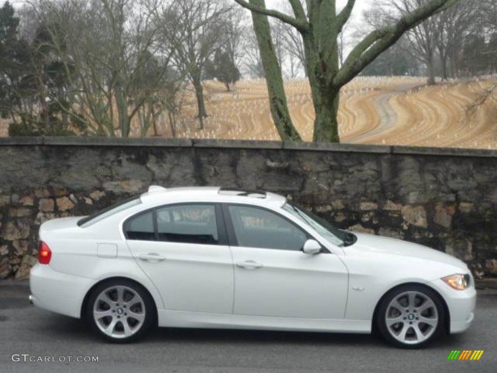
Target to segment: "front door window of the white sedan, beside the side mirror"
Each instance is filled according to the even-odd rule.
[[[307,235],[278,214],[248,206],[229,206],[239,246],[301,250]]]

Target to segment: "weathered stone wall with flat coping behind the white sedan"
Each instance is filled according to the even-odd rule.
[[[497,152],[108,138],[0,139],[0,278],[26,278],[40,224],[150,184],[275,191],[341,228],[428,245],[497,275]]]

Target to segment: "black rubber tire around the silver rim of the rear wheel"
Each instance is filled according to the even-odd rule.
[[[136,294],[141,297],[141,300],[143,300],[143,305],[144,305],[144,320],[142,321],[141,326],[139,326],[139,329],[135,332],[133,332],[132,335],[128,337],[120,336],[120,337],[113,337],[111,335],[105,334],[100,327],[97,325],[97,321],[95,320],[94,313],[93,313],[93,307],[95,305],[95,301],[97,297],[106,289],[112,288],[113,286],[124,286],[129,289],[132,289],[133,291],[136,292]],[[104,303],[105,304],[105,303]],[[118,303],[115,303],[118,304]],[[116,305],[113,304],[112,307],[116,307]],[[126,304],[126,303],[125,303]],[[122,311],[122,310],[121,310]],[[112,311],[114,312],[114,311]],[[91,328],[93,331],[101,338],[103,338],[106,341],[110,341],[113,343],[128,343],[132,341],[136,341],[137,339],[143,337],[152,327],[152,325],[155,324],[156,316],[157,315],[157,309],[154,300],[152,299],[152,296],[149,294],[149,292],[141,285],[137,284],[136,282],[132,280],[126,280],[126,279],[115,279],[115,280],[106,280],[101,283],[99,283],[95,288],[91,290],[91,293],[89,294],[86,302],[86,307],[85,307],[85,317],[87,322],[91,325]],[[109,316],[110,317],[110,316]],[[124,321],[124,316],[122,316],[123,319],[117,320],[117,322],[123,322]],[[113,318],[112,318],[113,320]],[[127,322],[127,321],[126,321]],[[122,325],[122,324],[121,324]]]

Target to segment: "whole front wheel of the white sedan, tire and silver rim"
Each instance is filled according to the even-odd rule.
[[[402,285],[383,297],[376,324],[388,343],[416,349],[440,336],[445,317],[442,300],[434,290],[416,284]]]

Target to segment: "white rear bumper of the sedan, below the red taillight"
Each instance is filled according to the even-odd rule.
[[[38,307],[81,317],[81,305],[91,280],[56,272],[50,266],[36,264],[30,272],[29,300]]]

